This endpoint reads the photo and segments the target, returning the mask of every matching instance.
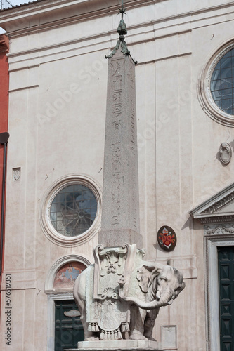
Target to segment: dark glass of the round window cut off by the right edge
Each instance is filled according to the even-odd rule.
[[[234,114],[234,48],[214,67],[210,91],[216,105],[227,114]]]

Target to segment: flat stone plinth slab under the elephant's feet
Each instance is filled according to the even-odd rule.
[[[77,349],[64,351],[164,351],[161,343],[149,340],[80,341]]]

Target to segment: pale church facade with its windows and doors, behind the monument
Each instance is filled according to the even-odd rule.
[[[105,55],[117,42],[120,4],[40,0],[0,11],[10,43],[11,135],[3,351],[59,351],[84,337],[72,289],[98,244]],[[124,7],[125,40],[138,61],[143,247],[147,260],[176,267],[186,282],[161,308],[153,336],[164,350],[232,350],[234,2],[128,0]]]

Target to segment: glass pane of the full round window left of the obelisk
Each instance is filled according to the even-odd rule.
[[[64,187],[54,197],[50,208],[51,224],[58,233],[76,237],[88,230],[96,218],[97,200],[82,184]]]

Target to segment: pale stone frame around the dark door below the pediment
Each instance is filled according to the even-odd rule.
[[[221,225],[223,228],[225,224]],[[213,227],[209,225],[209,230]],[[214,225],[217,227],[217,225]],[[229,227],[229,226],[228,226]],[[207,234],[204,227],[204,257],[206,278],[207,349],[220,351],[219,257],[218,247],[234,246],[233,234]]]

